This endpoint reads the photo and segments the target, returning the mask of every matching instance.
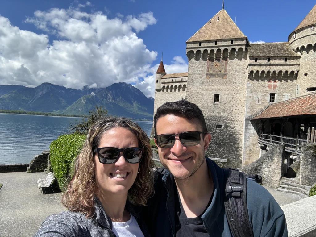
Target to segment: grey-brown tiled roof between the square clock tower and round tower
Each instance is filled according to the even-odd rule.
[[[249,44],[249,57],[299,57],[289,42]]]

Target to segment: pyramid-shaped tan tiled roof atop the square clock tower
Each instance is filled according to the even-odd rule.
[[[236,26],[226,10],[222,9],[186,42],[238,38],[246,38],[246,36]]]

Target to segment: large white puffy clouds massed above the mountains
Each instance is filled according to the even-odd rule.
[[[0,81],[35,87],[50,82],[67,88],[107,87],[133,83],[146,96],[154,96],[157,52],[146,48],[137,33],[156,23],[152,12],[109,18],[89,13],[91,3],[69,9],[35,11],[25,22],[42,34],[21,30],[0,15]],[[167,73],[187,71],[177,56]]]

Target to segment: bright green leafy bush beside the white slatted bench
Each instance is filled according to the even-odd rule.
[[[54,176],[62,191],[65,191],[70,182],[72,161],[79,155],[86,135],[62,135],[53,141],[50,148],[50,161]]]

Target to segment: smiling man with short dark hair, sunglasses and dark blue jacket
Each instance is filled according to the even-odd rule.
[[[211,135],[202,111],[186,100],[168,102],[154,117],[161,164],[155,196],[143,211],[152,236],[233,236],[224,208],[223,169],[205,156]],[[247,181],[247,208],[254,237],[288,236],[271,194]]]

